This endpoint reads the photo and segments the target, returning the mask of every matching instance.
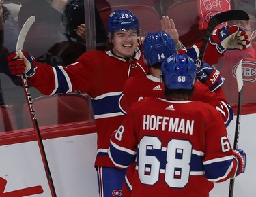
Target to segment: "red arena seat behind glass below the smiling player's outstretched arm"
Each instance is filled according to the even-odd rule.
[[[55,94],[32,99],[39,126],[48,126],[90,120],[89,96],[82,94]],[[32,127],[27,103],[23,105],[24,127]]]

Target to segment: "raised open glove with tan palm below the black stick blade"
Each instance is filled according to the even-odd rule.
[[[246,31],[236,25],[223,26],[221,29],[214,29],[209,40],[212,45],[216,45],[220,54],[223,54],[227,49],[244,50],[250,43]]]

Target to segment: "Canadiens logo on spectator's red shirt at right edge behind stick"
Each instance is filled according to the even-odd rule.
[[[233,66],[232,73],[236,78],[236,68],[238,64]],[[256,81],[256,62],[244,61],[242,62],[242,78],[243,82],[255,82]]]

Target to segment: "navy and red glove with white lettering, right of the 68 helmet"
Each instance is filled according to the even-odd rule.
[[[208,86],[210,92],[214,92],[225,80],[221,77],[220,71],[205,62],[202,62],[200,69],[197,70],[197,79]]]

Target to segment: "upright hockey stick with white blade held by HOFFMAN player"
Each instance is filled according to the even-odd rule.
[[[242,88],[243,88],[243,81],[242,81],[242,60],[240,60],[238,67],[236,69],[236,81],[238,83],[238,111],[236,113],[236,128],[235,128],[235,136],[233,141],[233,149],[238,148],[238,141],[239,141],[239,132],[240,132],[240,118],[241,118],[241,109],[242,109]],[[235,178],[230,179],[229,182],[229,197],[233,196],[233,186],[235,184]]]

